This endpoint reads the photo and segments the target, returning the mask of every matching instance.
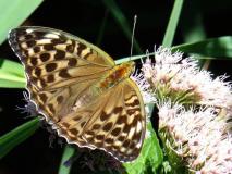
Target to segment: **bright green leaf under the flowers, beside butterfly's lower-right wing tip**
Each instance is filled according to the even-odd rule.
[[[134,162],[123,164],[130,174],[156,173],[162,163],[162,150],[159,146],[156,133],[152,130],[150,123],[147,127],[150,135],[145,138],[139,157]]]

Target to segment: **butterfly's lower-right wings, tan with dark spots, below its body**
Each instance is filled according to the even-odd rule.
[[[81,138],[85,140],[82,146],[102,149],[120,161],[132,161],[143,145],[145,121],[139,90],[127,78],[95,102],[70,113],[59,126],[61,136],[70,135],[69,142],[80,142]]]

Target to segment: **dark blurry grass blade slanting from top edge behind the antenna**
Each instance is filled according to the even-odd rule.
[[[118,24],[121,26],[122,32],[125,34],[126,38],[131,42],[132,28],[130,27],[129,22],[125,18],[125,15],[120,10],[120,8],[115,3],[115,1],[114,0],[102,0],[102,2],[109,9],[109,11],[113,15],[115,22],[118,22]],[[142,49],[141,49],[138,42],[136,41],[136,39],[134,39],[134,47],[135,47],[135,50],[137,53],[142,53]]]

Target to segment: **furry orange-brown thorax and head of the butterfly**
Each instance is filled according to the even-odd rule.
[[[130,77],[134,71],[134,62],[126,62],[115,65],[109,73],[107,73],[101,80],[97,84],[98,88],[103,91],[107,90],[123,79]]]

